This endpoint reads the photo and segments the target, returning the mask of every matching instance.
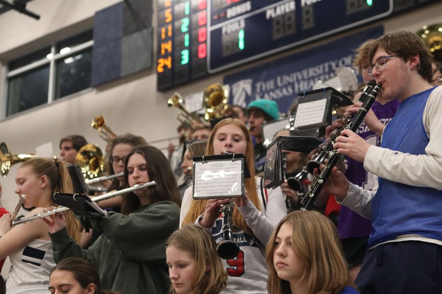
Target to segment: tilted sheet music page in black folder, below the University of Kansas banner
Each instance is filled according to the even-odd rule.
[[[324,123],[327,99],[300,103],[296,111],[295,128]]]

